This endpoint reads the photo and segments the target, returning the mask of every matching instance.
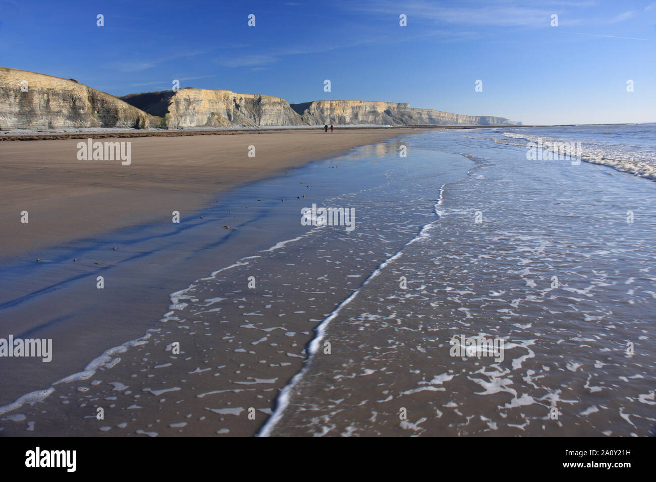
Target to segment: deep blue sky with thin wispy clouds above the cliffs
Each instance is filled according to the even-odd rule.
[[[0,0],[0,52],[0,66],[117,96],[179,79],[525,124],[656,121],[652,1]]]

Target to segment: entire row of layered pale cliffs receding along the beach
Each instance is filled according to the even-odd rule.
[[[285,99],[232,90],[185,88],[120,98],[41,73],[0,68],[0,129],[260,127],[302,125],[521,125],[504,117],[461,115],[367,100]]]

